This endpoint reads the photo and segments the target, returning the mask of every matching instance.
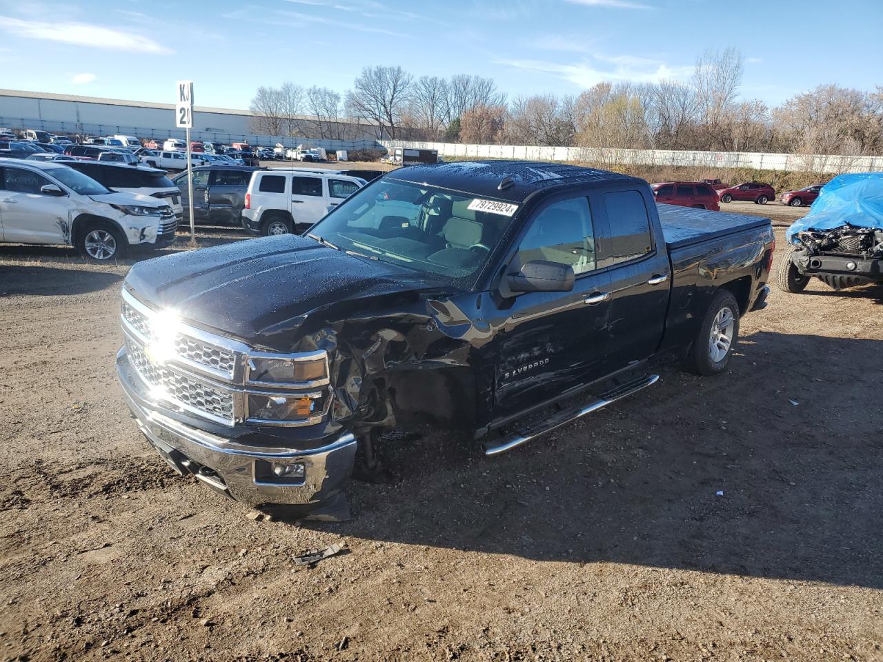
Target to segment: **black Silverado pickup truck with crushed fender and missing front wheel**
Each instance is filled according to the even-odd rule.
[[[495,455],[653,384],[662,352],[723,372],[773,251],[767,219],[657,207],[612,172],[412,166],[304,237],[132,267],[117,372],[179,472],[343,520],[383,431],[465,429]]]

